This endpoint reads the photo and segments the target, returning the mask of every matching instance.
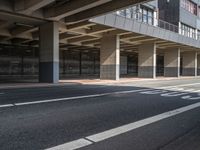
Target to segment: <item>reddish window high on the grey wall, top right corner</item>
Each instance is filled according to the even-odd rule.
[[[189,11],[190,13],[197,15],[197,4],[190,0],[181,0],[181,7]]]

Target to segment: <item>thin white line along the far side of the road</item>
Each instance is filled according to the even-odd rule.
[[[67,100],[75,100],[75,99],[94,98],[94,97],[107,96],[107,95],[111,95],[111,94],[135,93],[135,92],[140,92],[140,91],[145,91],[145,90],[148,90],[148,89],[146,88],[146,89],[138,89],[138,90],[130,90],[130,91],[108,92],[108,93],[93,94],[93,95],[84,95],[84,96],[75,96],[75,97],[67,97],[67,98],[31,101],[31,102],[24,102],[24,103],[5,104],[5,105],[0,105],[0,108],[1,108],[1,106],[2,107],[24,106],[24,105],[51,103],[51,102],[59,102],[59,101],[67,101]]]

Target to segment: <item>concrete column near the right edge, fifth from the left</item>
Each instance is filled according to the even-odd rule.
[[[197,52],[183,52],[183,76],[197,76]]]

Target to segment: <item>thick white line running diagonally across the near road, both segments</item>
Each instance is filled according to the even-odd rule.
[[[175,109],[175,110],[171,110],[171,111],[168,111],[168,112],[156,115],[156,116],[152,116],[152,117],[140,120],[140,121],[130,123],[130,124],[126,124],[126,125],[123,125],[123,126],[120,126],[120,127],[117,127],[117,128],[106,130],[106,131],[103,131],[103,132],[100,132],[100,133],[97,133],[97,134],[94,134],[94,135],[87,136],[83,139],[71,141],[71,142],[68,142],[68,143],[65,143],[65,144],[62,144],[62,145],[58,145],[58,146],[55,146],[55,147],[52,147],[52,148],[49,148],[49,149],[46,149],[46,150],[58,150],[58,149],[59,150],[60,149],[74,150],[74,149],[77,149],[77,148],[83,148],[83,147],[86,147],[88,145],[92,145],[94,143],[98,143],[98,142],[110,139],[112,137],[133,131],[133,130],[141,128],[141,127],[144,127],[146,125],[149,125],[149,124],[152,124],[152,123],[155,123],[155,122],[158,122],[158,121],[179,115],[181,113],[196,109],[198,107],[200,107],[200,102],[192,104],[192,105],[188,105],[188,106],[185,106],[185,107],[181,107],[181,108],[178,108],[178,109]]]

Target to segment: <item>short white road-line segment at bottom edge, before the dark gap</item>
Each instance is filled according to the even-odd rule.
[[[46,150],[74,150],[74,149],[88,146],[90,144],[92,144],[92,142],[85,140],[85,139],[79,139],[79,140],[72,141],[72,142],[69,142],[66,144],[48,148]]]

